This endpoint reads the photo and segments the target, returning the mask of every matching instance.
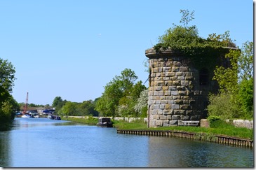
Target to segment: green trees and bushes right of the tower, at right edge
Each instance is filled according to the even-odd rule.
[[[222,119],[253,118],[253,43],[245,42],[241,50],[230,50],[226,57],[231,67],[217,66],[214,80],[219,94],[210,94],[209,115]]]

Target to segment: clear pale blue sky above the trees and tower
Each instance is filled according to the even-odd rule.
[[[253,41],[249,0],[0,0],[0,58],[15,66],[13,97],[29,104],[94,100],[124,69],[144,83],[145,50],[195,11],[199,36]],[[148,83],[145,84],[148,87]]]

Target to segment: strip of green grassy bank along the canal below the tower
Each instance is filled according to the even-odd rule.
[[[66,118],[63,117],[62,120],[69,120],[72,122],[84,123],[87,125],[96,125],[98,119],[93,117],[85,118]],[[118,129],[136,129],[136,130],[172,130],[180,132],[196,132],[196,133],[206,133],[206,134],[221,134],[227,136],[236,136],[243,139],[253,140],[254,134],[253,129],[247,129],[244,127],[234,127],[234,125],[224,122],[222,120],[217,120],[210,123],[210,127],[151,127],[147,128],[147,123],[143,120],[135,120],[134,122],[125,122],[124,120],[112,120],[113,127]]]

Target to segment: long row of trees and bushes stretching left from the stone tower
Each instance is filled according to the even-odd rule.
[[[124,69],[115,76],[102,92],[102,96],[93,100],[72,102],[55,97],[53,107],[59,115],[93,115],[109,117],[146,117],[147,87],[131,69]]]

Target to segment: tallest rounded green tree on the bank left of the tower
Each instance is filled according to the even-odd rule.
[[[107,83],[105,91],[97,100],[96,110],[104,116],[138,117],[139,111],[135,111],[137,99],[140,98],[142,90],[146,87],[142,81],[137,80],[135,72],[131,69],[124,69],[121,76],[115,76]]]

